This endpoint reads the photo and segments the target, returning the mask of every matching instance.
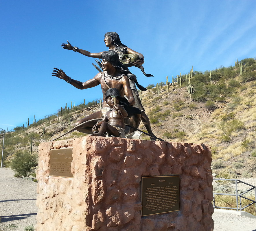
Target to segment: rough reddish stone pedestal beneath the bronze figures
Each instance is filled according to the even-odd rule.
[[[73,148],[73,178],[49,176],[50,150]],[[37,231],[213,230],[211,149],[85,136],[42,143]],[[180,176],[180,211],[141,217],[141,176]]]

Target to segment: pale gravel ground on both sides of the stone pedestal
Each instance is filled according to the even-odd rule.
[[[0,169],[0,230],[24,231],[36,224],[37,183],[13,175],[11,169]],[[215,212],[213,220],[214,231],[256,231],[255,218]]]

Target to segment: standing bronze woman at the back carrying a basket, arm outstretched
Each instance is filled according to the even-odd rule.
[[[79,49],[76,46],[72,46],[69,41],[67,41],[68,44],[62,43],[62,47],[63,49],[67,49],[67,50],[73,50],[75,52],[81,53],[82,55],[88,56],[88,57],[93,57],[93,58],[100,58],[103,52],[99,52],[99,53],[91,53],[89,51],[86,50],[82,50]],[[152,76],[151,74],[146,74],[144,71],[144,68],[141,66],[144,63],[144,57],[141,53],[136,52],[130,48],[128,48],[127,46],[125,46],[124,44],[121,43],[119,35],[116,32],[107,32],[104,36],[104,42],[106,44],[106,46],[109,48],[109,50],[113,50],[116,51],[119,55],[119,60],[125,60],[124,61],[124,66],[126,67],[130,67],[130,66],[136,66],[138,68],[140,68],[143,72],[143,74],[145,76]],[[129,55],[128,58],[126,55]],[[133,56],[137,56],[138,58],[135,60],[132,60]],[[127,60],[131,60],[133,62],[127,62]],[[129,75],[131,75],[131,77],[129,77]],[[141,100],[139,98],[139,94],[136,88],[135,83],[137,84],[137,86],[142,89],[142,90],[146,90],[145,88],[143,88],[142,86],[140,86],[137,82],[136,76],[132,75],[132,74],[128,74],[129,77],[129,81],[130,81],[130,87],[132,89],[132,94],[135,98],[135,107],[138,107],[141,110],[141,114],[136,114],[133,115],[132,118],[130,119],[130,123],[133,127],[138,128],[140,121],[143,122],[144,126],[146,127],[148,133],[150,135],[153,135],[151,126],[150,126],[150,121],[148,116],[145,113],[145,109],[143,108],[142,104],[141,104]],[[131,129],[131,132],[134,131],[134,129]],[[155,140],[154,137],[151,137],[151,140]]]

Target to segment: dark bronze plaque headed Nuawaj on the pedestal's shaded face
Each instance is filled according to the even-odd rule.
[[[180,210],[180,176],[141,178],[141,216]]]

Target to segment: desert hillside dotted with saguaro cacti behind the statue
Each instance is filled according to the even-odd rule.
[[[211,72],[191,70],[180,74],[173,78],[174,85],[162,81],[149,85],[140,97],[153,133],[165,141],[209,144],[216,177],[256,177],[255,70],[255,60],[244,59],[237,60],[235,66]],[[162,80],[166,81],[165,77]],[[172,79],[169,77],[168,81]],[[76,120],[99,108],[99,102],[82,103],[72,110],[59,109],[28,127],[14,128],[5,134],[3,165],[10,166],[17,153],[37,154],[40,142],[50,141],[69,130],[69,119],[72,128]],[[142,123],[139,129],[146,132]],[[74,131],[60,139],[84,135]],[[142,134],[141,139],[149,137]],[[2,133],[0,141],[2,145]]]

